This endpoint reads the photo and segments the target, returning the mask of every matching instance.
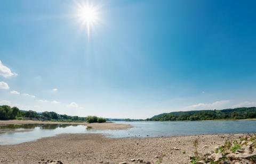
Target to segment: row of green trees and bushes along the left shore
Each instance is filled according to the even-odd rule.
[[[78,117],[78,116],[68,116],[60,115],[54,111],[44,111],[42,113],[37,113],[33,110],[20,110],[17,107],[10,107],[7,105],[0,106],[0,120],[8,119],[26,119],[34,118],[38,120],[58,120],[65,122],[89,122],[89,123],[105,123],[106,119],[97,116],[87,116],[87,117]],[[93,118],[93,119],[92,119]]]

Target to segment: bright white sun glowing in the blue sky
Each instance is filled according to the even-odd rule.
[[[99,7],[93,4],[77,4],[77,15],[82,27],[86,27],[87,35],[90,35],[90,30],[99,22]]]

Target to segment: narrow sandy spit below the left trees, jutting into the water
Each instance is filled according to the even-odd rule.
[[[117,123],[86,123],[86,122],[46,122],[38,120],[0,120],[0,125],[10,124],[71,124],[71,125],[85,125],[91,126],[95,130],[125,130],[131,128],[129,124],[117,124]]]

